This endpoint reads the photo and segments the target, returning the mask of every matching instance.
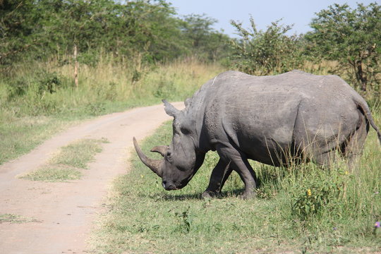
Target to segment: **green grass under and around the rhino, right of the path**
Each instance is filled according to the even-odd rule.
[[[380,125],[380,112],[374,116]],[[170,140],[166,123],[142,147],[149,151]],[[243,184],[235,173],[224,198],[200,198],[217,159],[208,153],[188,186],[164,191],[161,179],[134,156],[133,169],[115,181],[110,212],[92,237],[95,253],[380,251],[381,236],[373,234],[381,220],[380,145],[374,131],[355,171],[342,164],[323,171],[315,164],[281,169],[253,162],[261,183],[254,200],[238,198]]]

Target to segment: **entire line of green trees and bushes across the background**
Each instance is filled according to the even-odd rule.
[[[319,10],[317,10],[319,11]],[[238,38],[213,28],[204,15],[179,17],[165,0],[0,0],[0,75],[15,64],[75,61],[95,66],[104,55],[138,67],[195,57],[253,75],[298,68],[340,75],[356,90],[380,97],[381,11],[332,4],[315,14],[312,30],[289,35],[275,20],[266,30],[231,21]],[[243,17],[237,17],[243,18]],[[327,62],[329,62],[327,64]],[[328,67],[327,67],[328,66]],[[137,74],[137,75],[138,75]],[[374,96],[373,96],[374,97]]]

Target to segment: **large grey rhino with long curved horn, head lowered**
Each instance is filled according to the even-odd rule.
[[[310,161],[324,166],[339,154],[351,164],[370,126],[381,142],[368,104],[337,75],[226,71],[186,99],[183,110],[163,102],[174,117],[173,138],[171,145],[151,150],[163,159],[150,159],[135,138],[133,143],[167,191],[186,186],[210,150],[217,151],[219,162],[202,197],[220,195],[234,170],[245,185],[241,196],[252,198],[257,178],[248,159],[275,167]]]

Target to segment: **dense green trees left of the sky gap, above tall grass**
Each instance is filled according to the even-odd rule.
[[[179,18],[164,0],[0,1],[0,64],[71,55],[95,64],[102,53],[123,61],[171,61],[198,55],[221,58],[229,37],[205,15]]]

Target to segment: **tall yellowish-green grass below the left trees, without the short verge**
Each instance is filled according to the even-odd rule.
[[[95,66],[80,65],[79,85],[74,87],[72,64],[36,62],[2,77],[2,116],[104,114],[163,97],[184,99],[221,71],[221,66],[195,59],[136,70],[104,57]]]

